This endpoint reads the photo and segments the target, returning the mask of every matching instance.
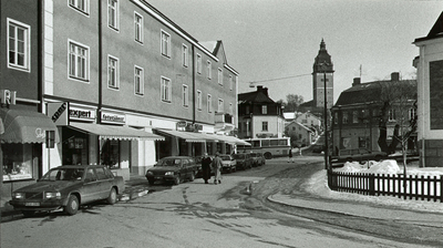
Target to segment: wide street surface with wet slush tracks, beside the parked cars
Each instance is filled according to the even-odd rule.
[[[261,167],[224,174],[219,185],[205,185],[197,178],[177,186],[148,186],[140,179],[136,187],[146,187],[150,194],[136,199],[113,206],[95,204],[75,216],[58,211],[4,221],[1,247],[420,246],[395,239],[394,231],[404,231],[396,224],[339,219],[333,214],[288,209],[266,200],[278,192],[301,190],[309,175],[322,169],[321,159],[270,159]],[[363,227],[378,225],[393,234],[383,237],[363,231]]]

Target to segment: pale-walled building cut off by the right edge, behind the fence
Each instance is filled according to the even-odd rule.
[[[423,167],[443,167],[443,12],[424,38],[414,44],[418,69],[418,134]]]

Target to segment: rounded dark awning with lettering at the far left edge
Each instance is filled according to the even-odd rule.
[[[45,143],[47,131],[59,135],[55,124],[47,115],[25,110],[0,108],[4,133],[0,135],[2,143]]]

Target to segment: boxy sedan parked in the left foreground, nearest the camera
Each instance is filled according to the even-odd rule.
[[[10,204],[25,217],[59,208],[75,215],[81,205],[92,202],[106,199],[115,204],[124,189],[123,177],[114,176],[104,165],[65,165],[50,169],[35,184],[13,192]]]

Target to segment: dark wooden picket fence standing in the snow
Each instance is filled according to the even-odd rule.
[[[328,185],[336,192],[443,203],[443,176],[328,172]]]

